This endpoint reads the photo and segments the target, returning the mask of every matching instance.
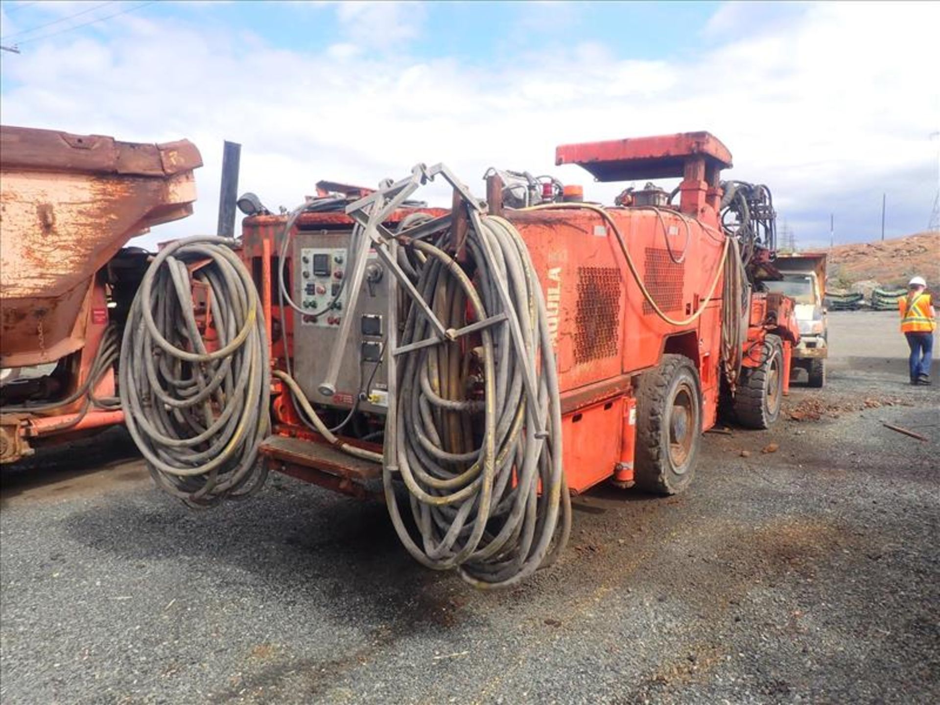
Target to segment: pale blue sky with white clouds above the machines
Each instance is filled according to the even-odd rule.
[[[193,140],[196,214],[154,240],[211,230],[223,139],[243,190],[290,207],[418,161],[478,191],[489,165],[553,170],[609,200],[622,186],[556,169],[556,144],[704,129],[807,247],[830,212],[838,242],[880,237],[882,193],[888,237],[921,230],[940,181],[937,4],[140,5],[0,3],[22,52],[0,54],[0,118]]]

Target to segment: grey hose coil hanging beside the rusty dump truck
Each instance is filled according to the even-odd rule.
[[[161,250],[121,345],[127,428],[157,484],[196,506],[246,496],[267,476],[256,458],[270,423],[268,346],[258,290],[233,243],[196,237]],[[211,293],[218,335],[211,351],[197,326],[192,280]]]

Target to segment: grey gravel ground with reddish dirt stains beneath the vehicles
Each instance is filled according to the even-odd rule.
[[[904,384],[893,315],[830,325],[830,384],[787,402],[819,419],[708,434],[678,497],[578,498],[509,592],[290,478],[185,509],[116,434],[5,471],[0,700],[936,702],[940,394]]]

